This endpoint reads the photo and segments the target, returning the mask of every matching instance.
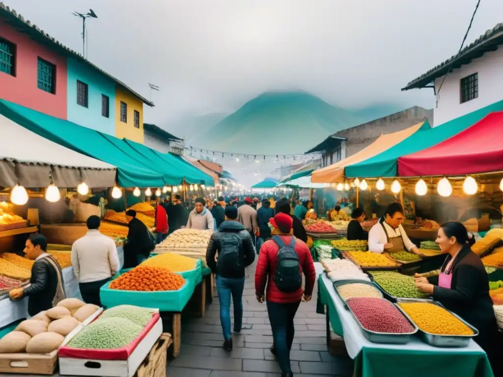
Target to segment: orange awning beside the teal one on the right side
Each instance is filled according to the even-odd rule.
[[[356,164],[361,161],[365,161],[370,157],[384,152],[385,150],[391,148],[392,146],[398,144],[400,141],[408,138],[414,132],[423,126],[424,122],[418,123],[412,127],[406,128],[405,130],[393,132],[392,134],[383,134],[377,138],[368,147],[362,149],[361,151],[355,153],[354,155],[345,158],[339,162],[325,166],[321,169],[314,170],[311,173],[311,182],[313,183],[340,183],[344,182],[344,168],[346,166]]]

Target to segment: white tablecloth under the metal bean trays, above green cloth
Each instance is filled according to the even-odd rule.
[[[360,328],[359,323],[353,314],[344,307],[344,303],[341,298],[337,295],[335,289],[333,288],[333,284],[330,279],[326,276],[326,274],[321,275],[321,283],[326,287],[330,299],[335,304],[337,312],[339,313],[339,318],[341,320],[341,324],[344,331],[344,342],[346,343],[346,349],[348,350],[348,354],[351,358],[355,358],[358,356],[363,347],[365,348],[386,348],[386,349],[400,349],[408,348],[411,351],[422,351],[422,352],[435,352],[435,353],[450,353],[453,352],[459,353],[459,356],[463,356],[463,353],[473,353],[480,352],[484,353],[482,348],[475,343],[473,340],[470,340],[470,343],[467,347],[464,348],[441,348],[434,347],[429,344],[424,343],[420,339],[416,337],[412,337],[411,340],[407,344],[381,344],[381,343],[372,343],[365,338]]]

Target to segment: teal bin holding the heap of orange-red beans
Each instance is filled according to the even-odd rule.
[[[141,266],[135,268],[139,267]],[[139,290],[140,287],[136,287],[136,290],[133,289],[135,287],[115,289],[114,281],[133,269],[122,270],[114,276],[114,280],[100,289],[100,300],[104,307],[111,308],[130,304],[142,308],[155,306],[162,312],[181,312],[194,294],[196,285],[190,278],[185,279],[185,282],[178,290],[152,290],[148,288],[150,291],[145,291]],[[151,281],[155,284],[156,278],[152,278]]]

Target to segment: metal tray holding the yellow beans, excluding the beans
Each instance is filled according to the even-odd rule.
[[[433,304],[441,307],[442,309],[447,310],[442,304],[436,301],[428,301],[428,300],[420,300],[420,299],[397,299],[396,306],[401,310],[399,307],[399,303],[428,303],[428,304]],[[474,338],[475,336],[478,335],[478,330],[470,325],[468,322],[466,322],[464,319],[456,315],[455,313],[451,312],[450,310],[447,310],[449,313],[451,313],[454,317],[459,319],[461,322],[463,322],[466,326],[468,326],[472,331],[473,335],[438,335],[438,334],[432,334],[426,331],[423,331],[419,329],[419,336],[420,338],[427,344],[430,344],[435,347],[466,347],[470,343],[470,339]],[[404,314],[405,317],[408,318],[408,320],[412,323],[412,319],[402,310],[402,313]],[[415,325],[415,323],[414,323]]]

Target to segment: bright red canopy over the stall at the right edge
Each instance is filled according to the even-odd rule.
[[[459,134],[398,158],[399,176],[464,175],[503,171],[503,112],[487,115]]]

